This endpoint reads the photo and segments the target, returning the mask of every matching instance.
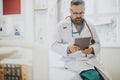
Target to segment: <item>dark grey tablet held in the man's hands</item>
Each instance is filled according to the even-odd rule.
[[[80,50],[84,50],[89,47],[91,37],[76,38],[74,44],[80,46]]]

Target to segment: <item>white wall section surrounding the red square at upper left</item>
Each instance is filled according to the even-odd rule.
[[[0,0],[0,4],[2,4],[2,0]],[[24,40],[29,42],[34,40],[33,0],[21,0],[20,14],[3,15],[2,11],[2,5],[0,5],[0,21],[4,22],[1,23],[1,26],[5,27],[5,35],[8,35],[7,40]],[[17,36],[17,38],[14,35],[16,26],[19,27],[20,31],[20,36]],[[5,36],[1,39],[4,40],[4,38]]]

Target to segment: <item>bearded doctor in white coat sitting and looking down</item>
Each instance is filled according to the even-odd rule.
[[[84,19],[84,1],[72,0],[70,13],[56,27],[52,49],[63,56],[65,68],[78,73],[83,80],[112,80],[96,59],[100,42],[93,25]],[[83,37],[91,37],[91,41],[87,49],[81,50],[73,42]]]

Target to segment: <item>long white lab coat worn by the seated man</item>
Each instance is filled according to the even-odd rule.
[[[67,47],[74,42],[76,37],[90,37],[91,33],[88,27],[84,26],[83,30],[79,34],[72,36],[71,19],[67,18],[61,21],[55,29],[55,35],[52,44],[52,50],[63,56],[62,60],[65,62],[65,67],[68,70],[80,73],[84,70],[94,69],[96,67],[105,80],[112,80],[109,74],[99,64],[96,57],[100,53],[100,42],[93,25],[88,24],[92,31],[95,44],[91,45],[94,48],[95,54],[88,54],[87,57],[81,51],[77,51],[74,54],[67,54]],[[73,26],[73,32],[76,32],[75,26]]]

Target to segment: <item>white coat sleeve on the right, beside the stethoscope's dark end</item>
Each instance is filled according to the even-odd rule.
[[[92,44],[91,46],[94,49],[95,56],[97,56],[100,53],[100,49],[101,49],[99,37],[97,35],[97,32],[96,32],[94,26],[92,24],[89,24],[89,25],[90,25],[90,29],[91,29],[91,32],[92,32],[92,35],[93,35],[93,39],[95,40],[95,44]]]

